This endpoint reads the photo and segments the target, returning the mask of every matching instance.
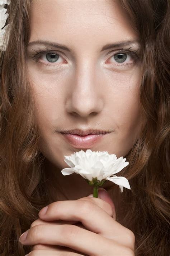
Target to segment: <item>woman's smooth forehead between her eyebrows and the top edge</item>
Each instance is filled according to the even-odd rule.
[[[30,41],[95,45],[138,39],[118,0],[32,0]]]

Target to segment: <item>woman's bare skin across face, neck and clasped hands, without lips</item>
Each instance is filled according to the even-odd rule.
[[[108,151],[117,157],[126,156],[138,139],[140,39],[118,3],[113,0],[32,1],[29,42],[48,40],[67,46],[70,51],[39,44],[29,45],[27,51],[41,131],[39,148],[46,157],[45,171],[53,202],[46,217],[39,215],[29,229],[24,244],[33,246],[30,255],[134,256],[134,234],[113,218],[116,209],[109,195],[103,200],[88,198],[93,188],[84,178],[61,174],[68,167],[64,156],[81,149],[54,132],[76,128],[112,130],[90,149]],[[101,51],[107,44],[127,40],[133,43]],[[45,47],[56,54],[56,62],[51,62],[45,52],[37,59],[32,58],[39,49],[47,50]],[[103,188],[109,190],[113,186],[116,185],[107,181]],[[70,225],[63,225],[66,223]],[[62,241],[61,236],[53,238],[54,232],[61,232]],[[89,245],[89,241],[93,244]],[[58,246],[67,248],[65,254]]]

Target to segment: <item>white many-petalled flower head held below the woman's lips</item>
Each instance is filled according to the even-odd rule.
[[[115,154],[109,154],[107,151],[91,151],[74,152],[71,156],[65,156],[64,161],[70,168],[61,171],[63,175],[72,173],[80,174],[85,178],[89,185],[101,186],[106,180],[119,185],[121,192],[123,187],[131,189],[128,180],[125,177],[116,176],[115,174],[126,167],[129,162],[125,162],[126,158],[119,157]]]

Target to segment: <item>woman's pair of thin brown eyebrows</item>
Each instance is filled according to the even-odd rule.
[[[103,48],[101,49],[101,51],[104,51],[104,50],[108,50],[110,48],[114,48],[114,47],[119,47],[119,46],[126,46],[126,45],[130,45],[130,44],[140,44],[139,41],[135,41],[135,40],[127,40],[127,41],[121,41],[121,42],[115,42],[114,44],[106,44],[103,46]],[[37,40],[37,41],[32,41],[32,42],[29,42],[26,47],[28,48],[28,46],[33,46],[33,45],[36,45],[36,44],[39,44],[39,45],[48,45],[48,46],[52,46],[52,47],[55,47],[55,48],[60,48],[62,50],[66,50],[66,51],[69,51],[69,52],[72,52],[71,49],[69,49],[66,45],[63,45],[63,44],[57,44],[56,42],[51,42],[51,41],[43,41],[43,40]]]

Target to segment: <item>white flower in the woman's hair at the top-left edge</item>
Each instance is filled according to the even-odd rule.
[[[9,14],[6,13],[7,9],[4,8],[5,4],[10,5],[10,0],[0,0],[0,50],[5,51],[6,50],[6,44],[4,45],[3,48],[3,42],[5,38],[5,33],[6,33],[6,28],[8,28],[6,23],[6,19],[8,18]],[[4,27],[5,26],[5,27]],[[7,42],[8,42],[9,37],[7,37]]]

